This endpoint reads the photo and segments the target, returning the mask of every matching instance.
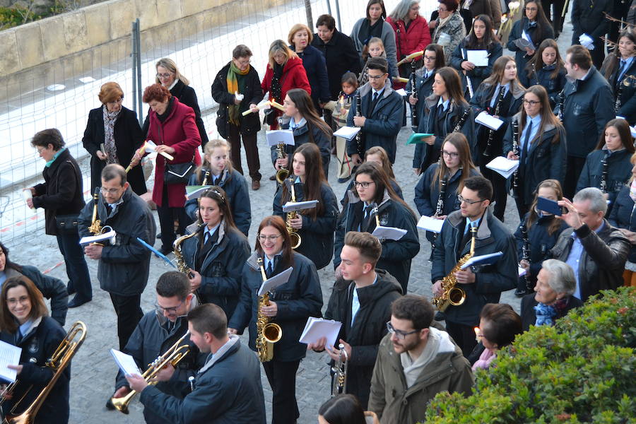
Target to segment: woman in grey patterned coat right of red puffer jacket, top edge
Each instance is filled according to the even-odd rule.
[[[461,40],[466,37],[466,26],[461,14],[457,11],[458,0],[437,0],[437,19],[431,19],[429,28],[433,29],[432,42],[444,47],[444,57],[449,63],[450,57]]]

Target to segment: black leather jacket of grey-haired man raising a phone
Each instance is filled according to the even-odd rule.
[[[551,258],[565,262],[574,243],[572,232],[576,232],[583,245],[578,269],[578,285],[583,302],[600,290],[616,290],[623,285],[630,242],[623,232],[612,227],[607,220],[603,220],[603,225],[599,232],[591,231],[587,224],[578,230],[566,228],[548,254]]]

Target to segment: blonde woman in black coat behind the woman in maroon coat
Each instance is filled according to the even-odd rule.
[[[159,59],[155,67],[157,69],[155,83],[161,84],[170,90],[170,94],[179,99],[179,102],[192,107],[192,110],[194,110],[194,122],[196,122],[196,128],[199,130],[201,146],[205,146],[208,142],[208,134],[206,133],[203,119],[201,119],[199,100],[196,99],[194,88],[189,85],[190,81],[179,72],[177,64],[172,59],[167,59],[166,57]],[[143,134],[148,133],[148,117],[146,117],[146,122],[143,122]]]

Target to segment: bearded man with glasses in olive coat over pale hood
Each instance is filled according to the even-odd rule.
[[[469,394],[473,387],[471,365],[447,332],[432,325],[434,313],[418,295],[391,305],[389,334],[379,344],[369,399],[369,410],[382,424],[423,421],[437,393]]]

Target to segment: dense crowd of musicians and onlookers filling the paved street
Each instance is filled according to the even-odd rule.
[[[142,370],[181,340],[189,347],[153,379],[117,375],[107,408],[121,409],[137,393],[146,423],[265,423],[260,361],[271,423],[293,424],[296,373],[311,350],[332,366],[348,363],[346,393],[321,406],[319,423],[416,423],[440,391],[469,394],[474,372],[496,366],[497,351],[522,331],[554,325],[600,290],[636,285],[636,35],[628,8],[614,16],[625,24],[615,28],[603,14],[611,2],[576,1],[572,45],[560,52],[563,2],[550,13],[550,1],[526,1],[505,35],[512,57],[498,33],[510,13],[505,1],[438,2],[427,20],[419,0],[401,0],[390,14],[382,0],[369,0],[349,36],[329,15],[319,16],[316,33],[293,25],[287,40],[271,43],[262,80],[252,51],[237,45],[211,86],[222,139],[208,139],[196,93],[171,59],[157,61],[155,83],[143,91],[143,125],[122,106],[119,85],[105,83],[83,137],[88,203],[60,131],[35,134],[44,182],[25,189],[26,202],[45,210],[69,283],[9,261],[0,243],[0,339],[24,347],[11,366],[16,393],[52,379],[46,362],[64,338],[67,308],[92,299],[87,261],[98,261],[100,288],[110,294],[119,350]],[[616,40],[606,41],[608,33]],[[406,171],[393,169],[407,115],[413,193],[400,187]],[[271,215],[249,240],[255,225],[241,150],[259,190],[261,117],[269,129],[289,130],[294,144],[271,146]],[[358,134],[334,136],[343,126]],[[156,160],[147,188],[149,153]],[[490,167],[500,157],[518,161],[510,177]],[[349,184],[343,199],[336,181]],[[160,228],[141,197],[150,190]],[[509,194],[520,219],[514,233],[503,223]],[[299,202],[310,207],[293,209]],[[420,216],[443,220],[441,230],[420,238]],[[114,236],[80,244],[110,230]],[[408,284],[427,242],[432,299],[409,294]],[[179,271],[159,278],[155,310],[144,314],[148,246],[174,254]],[[330,264],[325,306],[317,270]],[[274,277],[276,288],[260,293]],[[500,303],[507,290],[522,298],[521,314]],[[342,324],[334,346],[325,337],[300,343],[307,319],[323,316]],[[246,329],[247,346],[239,337]],[[35,423],[68,422],[69,379],[66,371],[57,379]],[[23,409],[33,401],[25,393]],[[5,396],[3,413],[16,399]]]

